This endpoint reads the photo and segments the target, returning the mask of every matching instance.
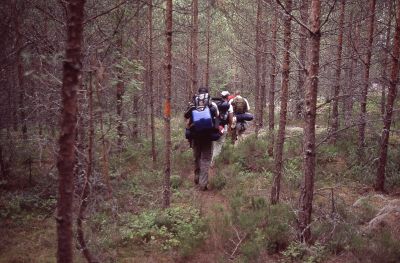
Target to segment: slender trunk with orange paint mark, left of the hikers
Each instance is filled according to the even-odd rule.
[[[196,0],[195,0],[196,1]],[[166,0],[165,18],[165,104],[164,104],[164,134],[165,134],[165,170],[164,170],[164,200],[163,207],[169,207],[171,196],[171,86],[172,86],[172,0]]]

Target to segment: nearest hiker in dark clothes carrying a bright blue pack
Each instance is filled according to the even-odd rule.
[[[184,117],[186,138],[193,148],[194,183],[200,186],[200,190],[205,191],[212,158],[212,142],[220,137],[215,127],[216,118],[219,117],[218,107],[211,101],[207,87],[199,88]]]

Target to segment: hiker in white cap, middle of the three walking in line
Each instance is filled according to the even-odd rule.
[[[214,159],[221,153],[226,134],[228,133],[228,129],[230,129],[233,123],[233,107],[231,104],[229,104],[229,96],[229,91],[224,90],[221,92],[221,98],[216,99],[216,104],[219,110],[218,121],[221,131],[221,137],[213,143],[213,155],[211,163],[213,163]]]

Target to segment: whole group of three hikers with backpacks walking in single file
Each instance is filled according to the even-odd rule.
[[[232,95],[222,91],[220,95],[211,98],[207,87],[199,88],[184,114],[185,136],[194,154],[194,183],[202,191],[207,190],[210,165],[226,137],[229,135],[234,144],[246,130],[246,121],[253,119],[249,102],[239,90]]]

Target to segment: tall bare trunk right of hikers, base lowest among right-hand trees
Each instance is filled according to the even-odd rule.
[[[309,67],[305,90],[305,126],[303,141],[303,173],[304,184],[300,196],[299,228],[302,241],[309,242],[311,238],[311,213],[314,197],[315,175],[315,122],[317,111],[319,52],[320,52],[320,0],[311,1]]]

